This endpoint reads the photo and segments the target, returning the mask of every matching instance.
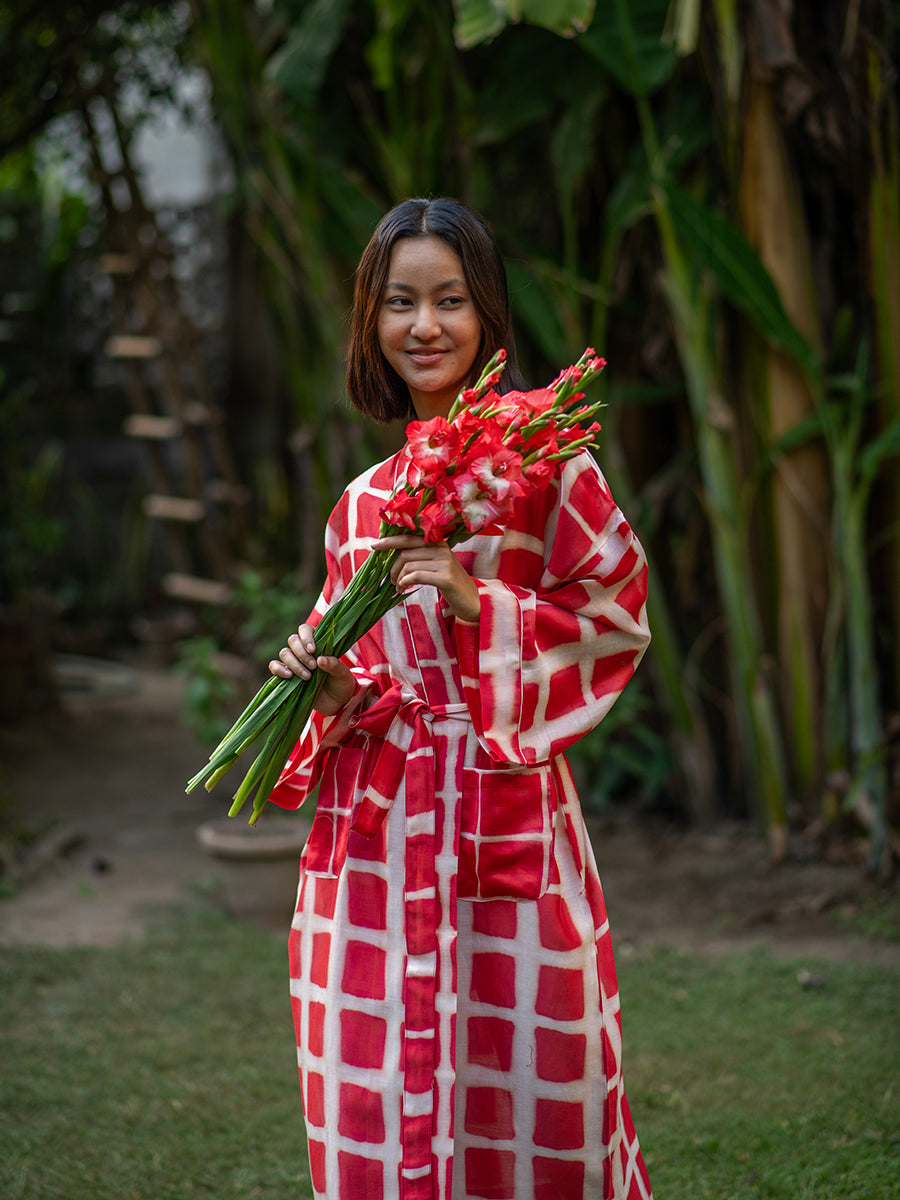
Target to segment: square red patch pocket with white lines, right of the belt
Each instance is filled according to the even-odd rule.
[[[462,773],[462,900],[538,900],[550,884],[556,794],[550,766]]]

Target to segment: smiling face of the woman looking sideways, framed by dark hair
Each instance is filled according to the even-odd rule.
[[[481,346],[462,263],[439,238],[403,238],[378,308],[382,353],[409,388],[416,416],[446,416]]]

